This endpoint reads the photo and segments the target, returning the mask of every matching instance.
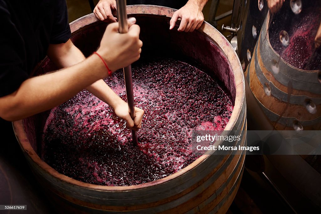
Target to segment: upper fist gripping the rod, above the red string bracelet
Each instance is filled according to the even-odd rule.
[[[127,33],[119,33],[117,22],[109,24],[105,30],[97,53],[112,72],[132,64],[140,57],[143,42],[139,39],[140,28],[135,22],[133,17],[128,19]]]

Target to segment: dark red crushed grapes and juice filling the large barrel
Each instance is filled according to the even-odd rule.
[[[139,145],[112,109],[88,91],[55,107],[43,134],[42,159],[59,173],[108,186],[155,181],[188,166],[192,130],[223,130],[233,106],[217,81],[172,59],[133,65],[134,99],[144,109]],[[126,100],[123,73],[105,80]]]

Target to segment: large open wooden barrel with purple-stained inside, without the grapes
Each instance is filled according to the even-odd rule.
[[[129,16],[134,16],[141,27],[142,56],[182,59],[221,80],[234,104],[225,130],[234,130],[236,135],[241,135],[241,140],[233,144],[244,146],[245,84],[236,53],[224,36],[208,23],[193,33],[169,30],[169,20],[174,12],[160,6],[127,7]],[[90,14],[70,25],[74,44],[88,56],[98,47],[107,24]],[[53,69],[45,59],[35,74]],[[77,181],[59,174],[39,158],[47,117],[48,112],[44,112],[16,121],[13,127],[36,178],[48,190],[52,201],[59,204],[56,206],[58,211],[63,213],[225,213],[239,188],[244,151],[236,155],[203,155],[177,173],[145,184],[101,186]]]

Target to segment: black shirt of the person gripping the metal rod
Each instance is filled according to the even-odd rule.
[[[65,0],[0,0],[0,97],[29,78],[49,44],[71,36]]]

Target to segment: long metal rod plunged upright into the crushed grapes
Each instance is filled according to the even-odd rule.
[[[119,23],[119,33],[128,32],[127,14],[126,14],[126,0],[117,0],[117,18]],[[124,80],[126,86],[126,96],[128,102],[128,109],[130,116],[134,120],[135,118],[135,103],[133,92],[133,79],[132,79],[132,66],[128,65],[124,70]],[[137,132],[132,130],[133,143],[137,145]]]

